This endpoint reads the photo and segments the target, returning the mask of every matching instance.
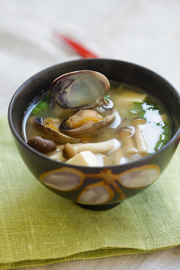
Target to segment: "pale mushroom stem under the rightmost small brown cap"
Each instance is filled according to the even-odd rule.
[[[146,143],[146,140],[144,138],[144,133],[142,128],[139,128],[138,126],[135,128],[135,140],[136,140],[136,146],[137,150],[140,154],[147,154],[148,152],[148,144]]]

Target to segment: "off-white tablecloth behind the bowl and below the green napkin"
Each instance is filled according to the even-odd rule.
[[[104,58],[148,67],[180,86],[179,0],[0,1],[0,113],[30,76],[79,58],[53,36],[70,35]],[[141,255],[75,260],[30,269],[179,269],[180,247]]]

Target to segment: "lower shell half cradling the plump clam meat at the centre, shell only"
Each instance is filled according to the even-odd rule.
[[[85,135],[92,135],[95,134],[105,128],[107,128],[114,120],[115,114],[116,114],[116,109],[115,108],[110,108],[110,109],[104,109],[106,110],[106,112],[109,114],[108,116],[106,116],[103,120],[98,121],[94,124],[91,125],[87,125],[81,128],[75,128],[75,129],[67,129],[66,127],[66,121],[67,119],[65,119],[59,129],[62,133],[68,135],[68,136],[85,136]]]

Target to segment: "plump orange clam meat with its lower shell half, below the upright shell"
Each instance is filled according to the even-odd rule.
[[[103,113],[106,114],[104,118],[95,110],[80,110],[65,119],[59,129],[62,133],[72,137],[95,134],[110,126],[114,121],[116,109],[104,109]]]

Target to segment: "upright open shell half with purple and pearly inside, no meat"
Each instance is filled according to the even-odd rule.
[[[63,74],[51,84],[54,101],[63,108],[91,109],[101,104],[110,82],[101,73],[78,70]]]

